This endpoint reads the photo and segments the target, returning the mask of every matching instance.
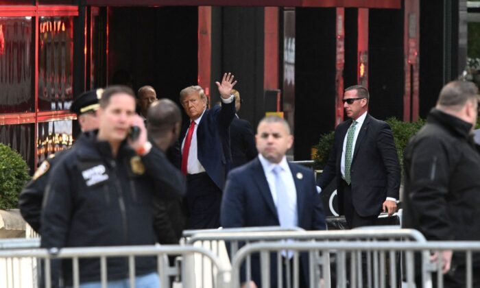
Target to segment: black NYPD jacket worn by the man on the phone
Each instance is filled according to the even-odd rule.
[[[154,244],[152,196],[184,194],[163,173],[156,151],[140,157],[122,143],[114,158],[96,132],[84,134],[51,172],[41,216],[42,247]],[[108,280],[128,278],[127,259],[108,259],[107,266]],[[156,271],[156,259],[136,257],[135,266],[137,275],[148,274]],[[65,284],[71,285],[71,261],[62,267]],[[80,259],[81,283],[99,280],[99,260]]]

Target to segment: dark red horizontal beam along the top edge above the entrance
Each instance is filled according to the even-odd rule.
[[[400,9],[400,0],[86,0],[97,6],[272,6]]]

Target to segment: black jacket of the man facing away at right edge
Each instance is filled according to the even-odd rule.
[[[403,226],[427,240],[480,240],[480,154],[471,129],[433,109],[405,149]]]

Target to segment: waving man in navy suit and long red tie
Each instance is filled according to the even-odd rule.
[[[226,173],[228,126],[235,117],[235,101],[230,95],[237,81],[225,73],[216,82],[222,105],[206,108],[202,87],[189,86],[180,92],[180,104],[190,121],[182,130],[181,170],[187,175],[185,202],[189,213],[189,228],[206,229],[220,226],[221,194]],[[230,152],[230,147],[228,147]]]

